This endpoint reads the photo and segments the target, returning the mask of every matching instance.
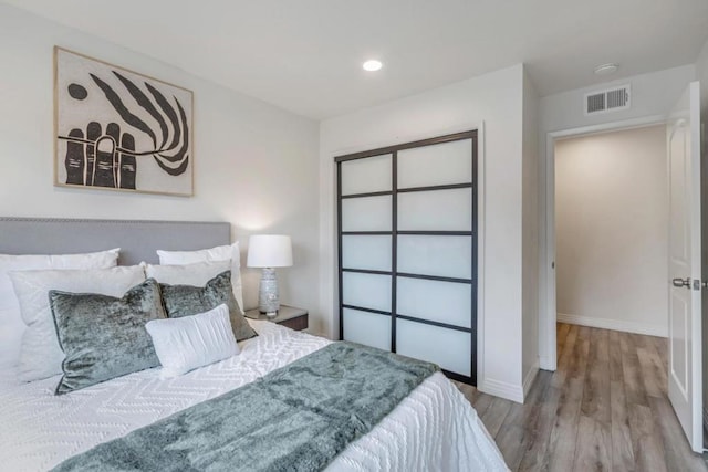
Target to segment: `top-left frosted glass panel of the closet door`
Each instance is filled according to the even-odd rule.
[[[391,154],[347,160],[341,166],[342,195],[391,190]]]

